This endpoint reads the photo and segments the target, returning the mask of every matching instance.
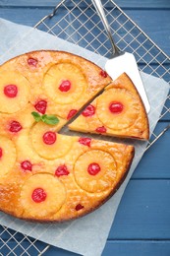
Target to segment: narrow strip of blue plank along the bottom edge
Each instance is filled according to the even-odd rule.
[[[38,243],[39,245],[40,243]],[[2,242],[0,242],[0,246],[2,246]],[[8,242],[8,246],[14,248],[17,245],[14,241]],[[35,244],[37,246],[37,242]],[[24,249],[28,248],[29,243],[27,241],[22,242],[22,247],[20,245],[16,247],[13,251],[16,255],[21,255],[24,253]],[[43,246],[38,246],[39,250],[43,250]],[[9,250],[7,246],[3,246],[1,248],[2,255],[7,255],[12,252]],[[37,255],[37,251],[33,246],[31,246],[28,250],[29,255]],[[138,252],[138,256],[169,256],[170,255],[170,241],[162,240],[162,241],[152,241],[152,240],[138,240],[138,241],[129,241],[129,240],[108,240],[106,242],[105,248],[103,250],[102,256],[111,256],[111,255],[119,255],[119,256],[136,256]],[[34,254],[33,254],[34,253]],[[48,250],[43,254],[44,256],[78,256],[79,254],[63,250],[54,246],[50,246]]]

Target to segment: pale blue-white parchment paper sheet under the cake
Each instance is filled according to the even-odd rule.
[[[16,55],[37,49],[73,52],[95,62],[102,68],[106,61],[104,57],[53,35],[0,19],[0,64]],[[151,104],[149,124],[150,132],[152,132],[168,94],[169,85],[161,79],[144,73],[142,73],[142,81]],[[122,195],[137,164],[142,159],[146,143],[136,142],[135,147],[136,157],[126,180],[117,193],[95,212],[77,221],[64,224],[32,224],[0,213],[0,224],[82,255],[101,255]]]

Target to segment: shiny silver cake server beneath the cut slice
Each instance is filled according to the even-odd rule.
[[[113,79],[117,79],[122,73],[126,73],[131,80],[133,81],[134,85],[136,86],[139,94],[142,97],[143,104],[145,106],[145,110],[148,113],[150,110],[150,104],[148,98],[146,96],[142,78],[139,72],[139,68],[137,65],[136,58],[133,53],[130,52],[123,52],[118,49],[117,45],[114,42],[113,36],[110,31],[110,27],[108,25],[108,21],[106,19],[104,9],[100,0],[91,0],[92,4],[94,5],[103,26],[108,34],[108,37],[111,42],[112,46],[112,55],[110,59],[107,60],[105,64],[105,70],[107,74]]]

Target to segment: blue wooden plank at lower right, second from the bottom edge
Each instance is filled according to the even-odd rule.
[[[170,180],[131,180],[109,239],[170,239]]]

